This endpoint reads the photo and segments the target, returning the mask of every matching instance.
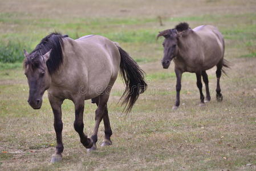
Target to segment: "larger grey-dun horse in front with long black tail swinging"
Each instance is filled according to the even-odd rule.
[[[29,84],[29,99],[33,109],[40,109],[47,90],[54,113],[56,151],[50,162],[62,160],[62,103],[69,99],[75,105],[74,128],[80,142],[90,152],[96,150],[97,132],[104,121],[105,138],[101,146],[111,145],[112,130],[108,117],[109,93],[118,72],[125,83],[121,99],[125,112],[130,112],[140,93],[147,88],[144,71],[118,43],[100,35],[71,39],[53,32],[41,40],[29,54],[24,51],[23,67]],[[83,132],[84,100],[96,103],[95,127],[90,138]],[[121,100],[120,99],[120,100]]]

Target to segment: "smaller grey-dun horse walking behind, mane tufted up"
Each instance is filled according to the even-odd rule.
[[[179,23],[175,28],[159,32],[157,39],[164,36],[164,57],[162,67],[168,68],[170,62],[174,62],[176,74],[176,102],[173,109],[180,105],[181,76],[183,72],[196,73],[197,87],[200,91],[200,105],[210,101],[209,81],[206,70],[217,66],[217,101],[222,101],[220,88],[221,73],[223,67],[229,68],[228,61],[224,59],[225,43],[221,32],[214,26],[202,25],[191,29],[186,22]],[[202,93],[202,79],[206,88],[206,100]]]

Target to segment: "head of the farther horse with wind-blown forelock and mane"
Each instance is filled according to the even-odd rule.
[[[157,38],[160,36],[164,36],[164,42],[162,46],[164,46],[164,57],[162,58],[162,67],[168,68],[170,66],[170,62],[174,57],[178,54],[178,38],[181,34],[188,30],[189,25],[188,23],[180,23],[173,29],[168,29],[159,32]]]

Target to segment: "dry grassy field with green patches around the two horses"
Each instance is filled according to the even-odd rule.
[[[0,56],[22,56],[23,48],[33,50],[52,31],[74,39],[100,34],[129,52],[147,73],[149,84],[125,115],[117,104],[124,91],[117,79],[108,103],[113,145],[100,147],[101,124],[98,148],[92,153],[86,152],[73,128],[74,105],[64,101],[63,160],[49,164],[56,142],[47,95],[42,108],[33,110],[27,104],[23,57],[15,63],[0,62],[0,170],[256,170],[255,11],[254,0],[0,0]],[[222,103],[215,99],[213,68],[208,71],[212,101],[198,106],[196,76],[186,73],[181,106],[172,111],[174,64],[162,69],[162,38],[156,42],[156,35],[183,21],[190,27],[217,26],[225,36],[231,69],[221,78]],[[84,131],[89,136],[95,109],[86,101]]]

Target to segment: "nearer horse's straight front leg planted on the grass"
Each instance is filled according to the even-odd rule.
[[[50,93],[48,93],[48,99],[51,104],[52,111],[54,113],[54,129],[56,133],[56,152],[52,155],[51,163],[57,162],[62,160],[62,152],[64,149],[63,143],[62,143],[62,108],[61,105],[63,103],[63,100],[57,99],[54,96],[51,96]]]

